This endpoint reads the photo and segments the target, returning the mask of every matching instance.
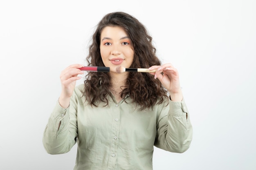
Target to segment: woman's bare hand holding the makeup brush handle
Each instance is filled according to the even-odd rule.
[[[155,73],[150,74],[155,75],[155,79],[159,79],[163,86],[168,90],[172,101],[182,101],[183,96],[180,88],[179,73],[171,63],[163,64],[162,66],[151,66],[148,69],[157,69]]]

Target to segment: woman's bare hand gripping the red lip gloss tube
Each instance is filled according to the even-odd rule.
[[[77,75],[83,74],[79,68],[83,67],[81,64],[72,64],[65,68],[60,75],[61,79],[61,95],[59,97],[59,104],[63,108],[67,108],[70,104],[70,97],[76,86],[76,80],[81,79]]]

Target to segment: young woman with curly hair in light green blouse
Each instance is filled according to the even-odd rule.
[[[61,95],[49,118],[43,145],[49,154],[78,146],[74,170],[152,170],[153,147],[185,152],[192,140],[189,112],[172,64],[161,65],[152,38],[136,18],[109,13],[99,22],[87,57],[62,71]],[[153,73],[118,70],[148,68]]]

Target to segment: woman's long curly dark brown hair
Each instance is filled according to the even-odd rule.
[[[92,36],[92,44],[89,46],[89,54],[86,57],[89,66],[104,66],[100,53],[100,36],[106,26],[120,26],[128,34],[134,49],[134,58],[130,68],[149,68],[153,65],[161,65],[152,44],[152,37],[145,26],[127,13],[114,12],[105,15],[97,25]],[[109,73],[104,72],[88,72],[85,76],[83,95],[92,106],[97,106],[98,102],[105,102],[108,106],[110,79]],[[130,72],[126,84],[127,86],[120,87],[121,97],[129,94],[141,110],[161,104],[164,102],[164,97],[168,97],[161,82],[149,73]]]

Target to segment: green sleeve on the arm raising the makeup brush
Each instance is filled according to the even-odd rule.
[[[157,138],[155,146],[170,152],[185,152],[192,141],[193,128],[184,100],[169,101],[158,110]]]

